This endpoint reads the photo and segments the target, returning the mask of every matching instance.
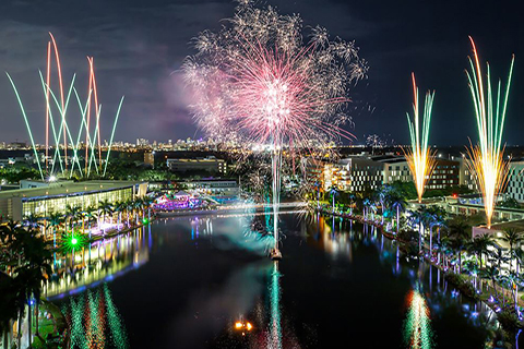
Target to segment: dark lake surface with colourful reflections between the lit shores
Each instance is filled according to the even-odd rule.
[[[248,233],[252,219],[264,226],[252,216],[163,219],[93,245],[91,269],[48,290],[73,347],[492,347],[493,314],[372,227],[283,215],[274,263]]]

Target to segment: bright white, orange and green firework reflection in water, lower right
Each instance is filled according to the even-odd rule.
[[[404,339],[409,348],[430,349],[432,348],[431,322],[429,309],[424,296],[414,288],[407,294],[409,305],[407,317],[404,323]]]

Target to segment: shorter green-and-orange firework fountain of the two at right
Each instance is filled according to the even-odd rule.
[[[409,127],[409,137],[412,141],[410,149],[404,152],[404,155],[412,171],[417,189],[418,202],[422,202],[422,194],[426,189],[426,183],[431,178],[434,170],[436,160],[434,152],[429,147],[429,125],[431,122],[431,109],[433,106],[434,92],[426,93],[426,100],[424,104],[422,130],[420,132],[420,118],[418,105],[418,87],[415,81],[415,74],[412,73],[413,81],[413,120],[407,113],[407,124]]]

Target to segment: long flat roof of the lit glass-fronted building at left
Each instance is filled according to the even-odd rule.
[[[10,190],[0,192],[0,200],[10,197],[36,198],[43,196],[78,195],[81,193],[93,193],[100,191],[110,191],[116,189],[129,188],[135,184],[144,183],[142,181],[85,181],[85,182],[64,182],[52,184],[50,186],[40,186],[32,189]]]

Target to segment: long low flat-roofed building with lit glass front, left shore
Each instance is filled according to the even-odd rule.
[[[47,184],[47,185],[46,185]],[[26,183],[26,185],[31,185]],[[36,188],[0,192],[1,220],[22,220],[27,216],[49,217],[66,214],[68,206],[97,207],[103,201],[116,203],[146,194],[147,183],[132,181],[38,182]]]

